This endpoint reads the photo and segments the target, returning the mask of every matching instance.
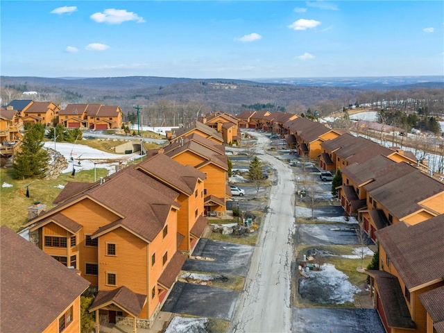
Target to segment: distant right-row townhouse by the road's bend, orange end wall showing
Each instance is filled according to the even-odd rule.
[[[321,144],[339,137],[342,132],[332,130],[316,121],[304,117],[298,117],[284,123],[287,128],[285,139],[289,148],[296,148],[298,154],[311,159],[321,154]]]

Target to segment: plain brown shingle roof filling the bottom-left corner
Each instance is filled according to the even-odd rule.
[[[43,332],[89,282],[6,226],[0,230],[1,332]]]

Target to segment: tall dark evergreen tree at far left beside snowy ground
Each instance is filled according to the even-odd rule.
[[[42,148],[43,137],[44,133],[39,126],[28,126],[22,140],[22,151],[15,156],[12,173],[15,179],[44,177],[48,169],[49,156]]]

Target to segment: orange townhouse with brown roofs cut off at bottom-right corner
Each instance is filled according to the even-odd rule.
[[[444,214],[376,232],[379,271],[368,270],[370,295],[388,333],[443,331]]]

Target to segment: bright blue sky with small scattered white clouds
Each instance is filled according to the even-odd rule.
[[[444,1],[1,1],[1,75],[444,75]]]

